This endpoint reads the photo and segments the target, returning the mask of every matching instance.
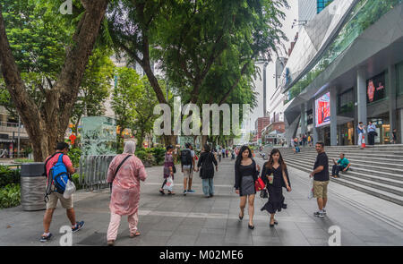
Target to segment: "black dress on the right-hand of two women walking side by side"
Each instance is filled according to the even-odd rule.
[[[266,175],[273,173],[273,183],[270,184]],[[286,171],[287,175],[287,171]],[[288,176],[287,176],[288,178]],[[277,169],[272,168],[271,170],[263,166],[262,170],[262,180],[266,183],[267,191],[269,192],[269,201],[262,207],[261,210],[267,210],[270,214],[275,214],[276,211],[281,211],[284,204],[283,187],[285,187],[283,178],[283,169],[279,166]],[[287,179],[288,180],[288,179]],[[288,180],[289,184],[289,180]]]

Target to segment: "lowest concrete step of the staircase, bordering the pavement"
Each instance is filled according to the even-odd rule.
[[[296,164],[296,163],[293,163],[293,162],[290,162],[290,163],[287,163],[287,164],[289,166],[295,167],[296,169],[304,171],[307,174],[312,172],[312,168],[309,167],[309,166],[306,166],[306,165]],[[366,185],[363,185],[361,183],[351,182],[351,181],[343,179],[343,178],[338,178],[338,179],[330,178],[330,181],[332,183],[339,183],[339,184],[345,185],[345,186],[347,186],[349,188],[353,188],[353,189],[355,189],[357,191],[365,192],[365,193],[368,193],[368,194],[373,195],[375,197],[381,198],[383,200],[389,200],[391,202],[394,202],[396,204],[399,204],[399,205],[403,206],[403,199],[402,199],[401,195],[397,195],[397,194],[390,193],[390,192],[384,192],[384,191],[379,190],[377,188],[366,186]]]

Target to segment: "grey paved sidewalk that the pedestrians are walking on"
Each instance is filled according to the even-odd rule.
[[[263,165],[262,159],[257,158],[257,161]],[[403,245],[401,229],[390,226],[379,216],[373,217],[365,209],[358,209],[359,205],[346,199],[351,189],[336,183],[330,183],[328,216],[324,219],[313,217],[317,206],[315,200],[306,198],[306,174],[293,168],[289,168],[293,191],[284,192],[287,209],[276,215],[279,226],[269,227],[268,213],[260,210],[265,201],[257,196],[254,230],[248,228],[247,208],[244,220],[238,219],[239,197],[232,188],[234,161],[229,158],[219,164],[219,173],[214,178],[216,195],[213,198],[203,197],[198,174],[193,176],[195,193],[181,194],[183,176],[178,173],[174,187],[176,195],[161,196],[162,167],[147,168],[147,173],[146,183],[141,183],[141,236],[129,237],[127,220],[123,217],[116,245],[328,245],[330,226],[341,228],[342,245]],[[108,190],[77,192],[74,200],[77,220],[84,220],[86,225],[73,234],[73,245],[106,245]],[[362,195],[360,200],[359,204],[362,204]],[[382,200],[376,202],[385,208],[390,204]],[[58,206],[51,226],[54,238],[48,243],[39,243],[44,211],[24,212],[21,207],[0,210],[0,245],[58,245],[62,235],[58,234],[60,226],[69,225],[64,209],[60,208],[60,204]],[[396,216],[399,215],[393,217]]]

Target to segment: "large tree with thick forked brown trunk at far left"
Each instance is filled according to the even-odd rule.
[[[4,2],[6,5],[3,6]],[[42,17],[55,23],[64,24],[64,16],[56,11],[60,3],[56,1],[50,2],[47,6],[44,6],[45,12],[42,13]],[[84,12],[80,14],[80,19],[75,24],[71,45],[66,48],[64,64],[56,74],[56,81],[49,82],[48,87],[40,89],[41,96],[44,98],[41,106],[38,106],[34,98],[30,97],[29,88],[21,78],[21,69],[16,64],[15,56],[13,55],[15,48],[10,47],[10,42],[7,38],[3,8],[4,15],[13,12],[18,14],[20,18],[31,21],[39,21],[42,17],[34,16],[38,13],[23,15],[24,11],[30,11],[27,8],[27,6],[32,5],[30,1],[24,1],[22,4],[14,4],[13,1],[2,1],[2,4],[0,4],[0,67],[5,86],[30,136],[36,161],[44,160],[54,150],[56,141],[64,140],[64,133],[78,96],[85,66],[107,10],[107,2],[107,0],[81,0]],[[52,6],[52,3],[58,4]],[[38,3],[33,3],[33,5],[36,4]],[[52,10],[52,7],[56,8]],[[21,20],[21,24],[25,25],[26,22]],[[47,30],[45,32],[49,33]],[[47,38],[47,35],[40,37]],[[27,43],[25,39],[20,39],[20,41],[21,43]],[[35,55],[39,51],[34,49],[29,54],[30,60],[36,64],[39,64],[40,57],[32,56],[32,54]]]

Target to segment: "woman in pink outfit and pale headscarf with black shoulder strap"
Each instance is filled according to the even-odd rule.
[[[127,141],[124,153],[117,155],[107,170],[107,183],[112,183],[110,222],[107,228],[107,244],[114,245],[122,216],[128,216],[130,237],[140,235],[137,230],[140,201],[140,181],[147,178],[144,165],[134,155],[136,143]]]

